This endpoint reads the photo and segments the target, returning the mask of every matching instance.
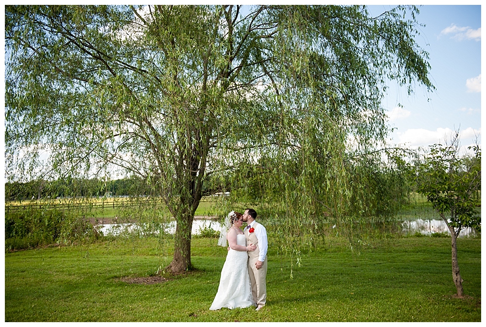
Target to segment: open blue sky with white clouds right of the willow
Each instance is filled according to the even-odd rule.
[[[369,10],[375,14],[389,8],[373,5]],[[463,149],[474,143],[474,133],[481,143],[481,6],[423,5],[419,11],[417,20],[426,26],[417,43],[430,55],[436,90],[417,86],[408,96],[390,85],[382,104],[396,127],[391,143],[412,148],[442,143],[458,128]]]

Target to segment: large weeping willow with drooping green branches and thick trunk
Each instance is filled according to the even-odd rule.
[[[47,150],[44,174],[119,167],[146,179],[177,222],[174,273],[191,268],[192,220],[209,179],[218,187],[230,176],[234,196],[278,195],[284,235],[298,244],[312,233],[307,222],[366,205],[349,205],[364,191],[347,163],[388,132],[387,81],[433,88],[417,13],[6,6],[6,170],[35,172]]]

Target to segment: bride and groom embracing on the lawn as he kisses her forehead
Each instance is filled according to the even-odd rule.
[[[256,218],[254,209],[246,209],[243,215],[234,211],[228,214],[231,227],[224,228],[218,242],[226,247],[228,241],[228,254],[209,310],[254,306],[258,311],[265,306],[268,239],[265,227]],[[242,231],[243,222],[247,225]]]

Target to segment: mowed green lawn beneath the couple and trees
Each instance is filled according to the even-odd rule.
[[[5,254],[5,321],[61,322],[480,322],[481,239],[460,238],[465,299],[454,298],[450,238],[376,240],[361,255],[326,238],[303,265],[269,249],[267,305],[208,308],[226,249],[192,240],[195,270],[160,284],[122,277],[156,273],[172,241],[155,237]],[[169,277],[168,275],[166,275]]]

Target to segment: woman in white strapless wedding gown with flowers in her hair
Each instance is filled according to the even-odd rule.
[[[240,229],[243,225],[243,215],[232,211],[228,214],[228,218],[231,227],[227,232],[226,238],[230,249],[221,271],[218,292],[209,310],[255,306],[251,296],[247,252],[255,251],[257,247],[252,244],[246,246],[246,237]]]

